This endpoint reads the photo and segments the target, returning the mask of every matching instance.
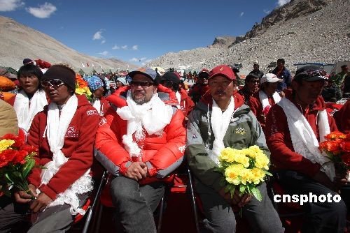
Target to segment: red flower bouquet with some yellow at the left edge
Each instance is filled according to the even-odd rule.
[[[25,144],[22,137],[12,134],[0,138],[0,185],[1,191],[9,195],[15,186],[29,194],[27,176],[35,165],[37,149]]]

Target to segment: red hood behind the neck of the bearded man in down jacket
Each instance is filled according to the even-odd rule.
[[[127,91],[130,90],[130,86],[120,87],[116,92],[111,94],[111,96],[108,96],[106,100],[108,100],[113,105],[116,105],[116,107],[124,107],[127,106]],[[166,104],[168,105],[179,105],[179,102],[176,98],[176,93],[172,91],[172,89],[169,89],[167,87],[162,86],[161,84],[158,85],[158,93],[166,93],[166,98],[161,98]]]

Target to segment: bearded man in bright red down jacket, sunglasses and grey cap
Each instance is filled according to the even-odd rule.
[[[97,131],[96,158],[113,174],[118,232],[156,232],[153,211],[165,191],[165,178],[183,160],[184,116],[162,101],[169,93],[157,93],[154,70],[139,68],[128,75],[130,87],[107,98],[111,109]]]

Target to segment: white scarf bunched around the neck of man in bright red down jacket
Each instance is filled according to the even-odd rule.
[[[132,99],[131,91],[127,91],[127,106],[118,108],[117,114],[127,121],[127,134],[123,135],[123,144],[130,157],[140,157],[141,149],[134,142],[135,133],[137,142],[145,137],[144,129],[148,135],[162,135],[163,128],[172,120],[172,106],[166,105],[155,93],[148,103],[137,105]]]

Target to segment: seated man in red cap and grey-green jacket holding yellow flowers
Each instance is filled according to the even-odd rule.
[[[260,161],[261,165],[268,168],[265,135],[253,112],[244,105],[243,97],[237,95],[235,73],[229,66],[216,66],[211,70],[209,92],[197,103],[188,119],[186,155],[207,217],[207,230],[235,232],[234,210],[241,208],[251,232],[283,232],[279,216],[267,196],[265,182],[256,182],[260,183],[257,187],[261,194],[259,201],[248,193],[241,195],[239,188],[231,194],[222,182],[223,179],[233,181],[239,174],[239,166],[228,170],[228,175],[218,172],[221,161],[225,160],[225,151],[255,145],[256,148],[248,149],[248,153],[254,149],[262,151],[265,159]],[[249,159],[246,159],[241,156],[239,162],[248,167]]]

